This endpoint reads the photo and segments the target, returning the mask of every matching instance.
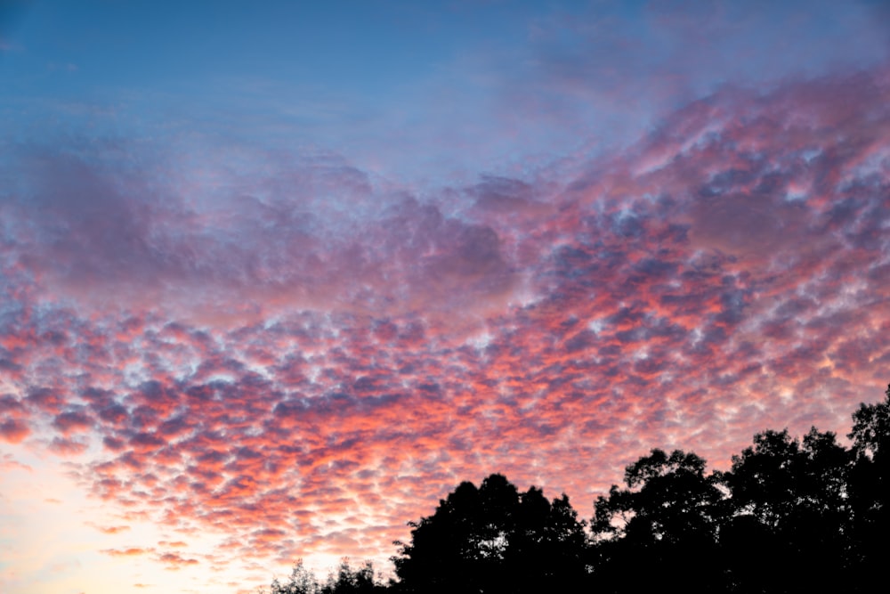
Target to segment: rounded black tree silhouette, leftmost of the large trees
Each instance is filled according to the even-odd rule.
[[[432,516],[410,522],[411,541],[392,557],[402,591],[554,591],[583,573],[584,525],[564,495],[553,503],[502,475],[461,483]]]

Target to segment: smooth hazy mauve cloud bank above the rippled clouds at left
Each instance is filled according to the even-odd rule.
[[[231,293],[247,301],[232,312],[242,315],[331,305],[459,312],[514,287],[489,226],[443,216],[416,199],[376,196],[364,174],[342,163],[296,160],[273,174],[280,179],[247,190],[255,195],[239,193],[245,189],[232,180],[228,193],[210,203],[151,181],[167,172],[135,173],[120,161],[122,149],[36,148],[15,163],[19,198],[6,207],[27,230],[20,232],[20,261],[82,305],[107,307],[103,296],[114,294],[117,303],[163,299],[186,313],[224,313],[232,312],[232,301],[219,296]],[[331,184],[338,199],[384,206],[364,221],[331,218],[341,211],[328,214],[330,207],[310,198],[313,190],[334,191]],[[457,289],[465,304],[443,298]]]

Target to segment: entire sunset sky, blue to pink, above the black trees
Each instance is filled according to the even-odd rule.
[[[0,1],[0,590],[391,571],[890,381],[881,2]]]

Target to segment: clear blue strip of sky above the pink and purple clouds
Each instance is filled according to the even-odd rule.
[[[12,7],[0,72],[12,128],[45,121],[34,102],[64,102],[68,113],[58,105],[57,125],[37,133],[110,126],[88,115],[110,110],[122,132],[225,130],[266,144],[271,127],[288,148],[363,160],[392,134],[417,147],[387,156],[386,171],[404,177],[630,142],[720,85],[864,66],[887,51],[879,4],[862,3]]]

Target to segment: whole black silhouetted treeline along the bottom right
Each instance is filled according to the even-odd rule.
[[[298,565],[270,594],[875,591],[890,552],[890,387],[853,421],[849,448],[815,427],[759,433],[726,472],[652,450],[589,522],[564,494],[465,482],[409,523],[396,579],[344,562],[322,584]]]

